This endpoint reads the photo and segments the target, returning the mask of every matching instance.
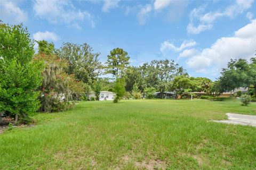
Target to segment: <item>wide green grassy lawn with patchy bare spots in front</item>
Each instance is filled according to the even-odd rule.
[[[256,169],[256,128],[209,120],[256,115],[239,101],[81,102],[0,134],[0,169]]]

